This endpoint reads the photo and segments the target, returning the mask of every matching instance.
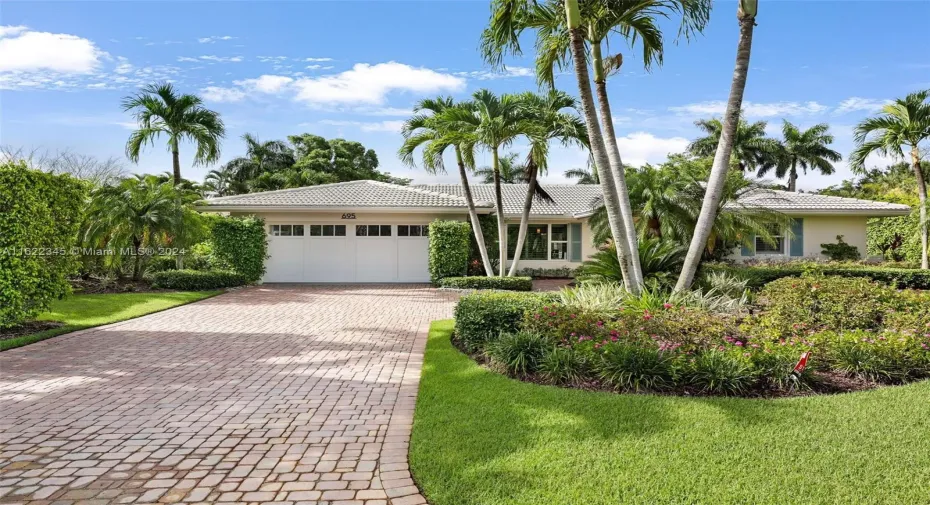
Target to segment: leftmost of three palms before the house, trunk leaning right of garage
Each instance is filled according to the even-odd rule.
[[[481,230],[481,221],[478,219],[478,212],[475,210],[475,200],[472,196],[471,186],[468,183],[467,167],[474,167],[474,143],[470,137],[462,135],[450,121],[446,111],[460,108],[468,111],[469,105],[456,105],[450,97],[439,97],[435,99],[421,100],[414,107],[414,116],[404,122],[401,133],[404,136],[404,143],[398,152],[400,159],[409,166],[415,166],[413,153],[417,148],[423,147],[423,167],[430,173],[444,173],[446,171],[443,163],[443,154],[452,147],[455,152],[455,161],[459,169],[459,179],[462,183],[462,193],[465,195],[465,203],[468,206],[468,217],[471,220],[472,232],[475,235],[475,242],[478,244],[478,251],[481,255],[481,262],[484,264],[484,271],[488,277],[494,276],[494,267],[491,265],[488,256],[487,244],[484,242],[484,234]],[[504,266],[501,264],[501,271]]]

